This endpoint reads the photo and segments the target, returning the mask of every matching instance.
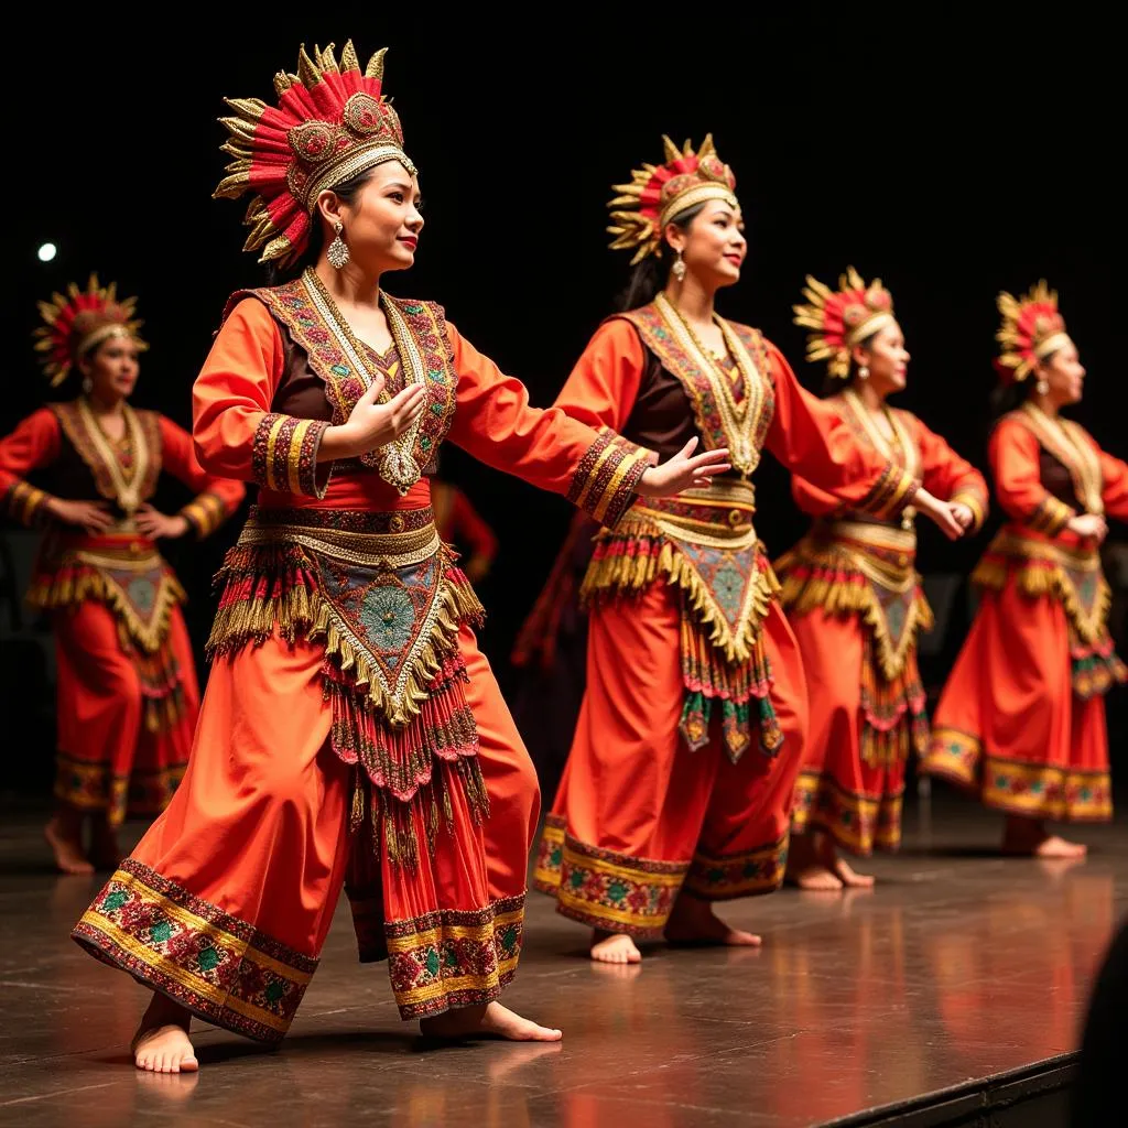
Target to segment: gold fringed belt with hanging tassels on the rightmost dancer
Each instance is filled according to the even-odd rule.
[[[1024,596],[1048,596],[1061,605],[1069,624],[1073,689],[1078,697],[1104,694],[1128,680],[1109,634],[1112,591],[1096,552],[1056,545],[1007,526],[987,547],[971,582],[981,590],[1001,591],[1011,576]]]

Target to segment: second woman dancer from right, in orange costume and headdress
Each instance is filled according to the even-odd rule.
[[[811,331],[808,359],[828,361],[827,402],[858,442],[949,499],[962,531],[978,529],[982,475],[910,412],[888,406],[909,362],[889,291],[853,267],[837,291],[807,282],[795,321]],[[909,749],[927,748],[916,647],[932,611],[915,566],[914,512],[899,521],[856,513],[799,475],[792,493],[814,523],[776,562],[810,694],[787,875],[802,889],[867,887],[873,878],[855,873],[838,849],[863,857],[874,846],[897,849]]]

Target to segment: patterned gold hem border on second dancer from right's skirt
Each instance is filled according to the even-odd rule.
[[[843,849],[863,857],[874,848],[896,851],[901,844],[904,796],[904,777],[896,792],[864,795],[846,791],[829,775],[803,772],[795,782],[792,832],[825,830]]]

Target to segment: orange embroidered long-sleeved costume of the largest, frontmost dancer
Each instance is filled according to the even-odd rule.
[[[485,1003],[515,973],[537,781],[418,470],[449,438],[614,522],[651,460],[530,407],[439,307],[382,300],[384,356],[344,349],[305,276],[244,297],[215,340],[196,446],[214,473],[257,482],[258,504],[224,564],[184,785],[76,929],[263,1041],[288,1030],[343,883],[360,958],[388,959],[404,1017]],[[425,386],[418,425],[317,465],[365,369],[389,391]]]

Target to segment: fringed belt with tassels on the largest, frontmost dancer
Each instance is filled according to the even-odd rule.
[[[475,818],[484,817],[458,649],[460,627],[481,620],[482,605],[430,509],[255,508],[217,584],[209,654],[262,644],[275,632],[290,643],[324,644],[333,750],[356,769],[354,829],[367,805],[381,828],[373,840],[411,864],[416,828],[424,826],[433,844],[440,811],[452,820],[449,787],[461,788]]]

